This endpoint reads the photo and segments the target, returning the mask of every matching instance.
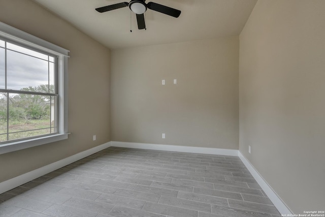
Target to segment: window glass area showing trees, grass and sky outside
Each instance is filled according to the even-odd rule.
[[[55,58],[0,39],[0,142],[57,133]]]

